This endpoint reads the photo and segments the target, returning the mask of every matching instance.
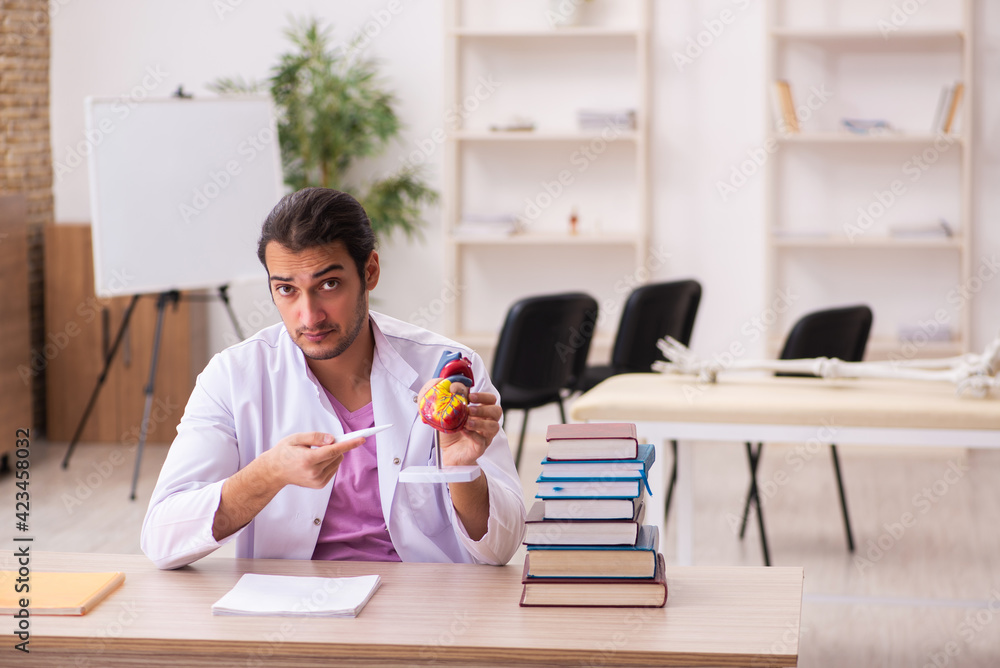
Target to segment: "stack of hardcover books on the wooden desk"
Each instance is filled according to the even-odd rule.
[[[628,423],[552,425],[546,441],[521,605],[663,606],[659,534],[642,523],[653,446]]]

